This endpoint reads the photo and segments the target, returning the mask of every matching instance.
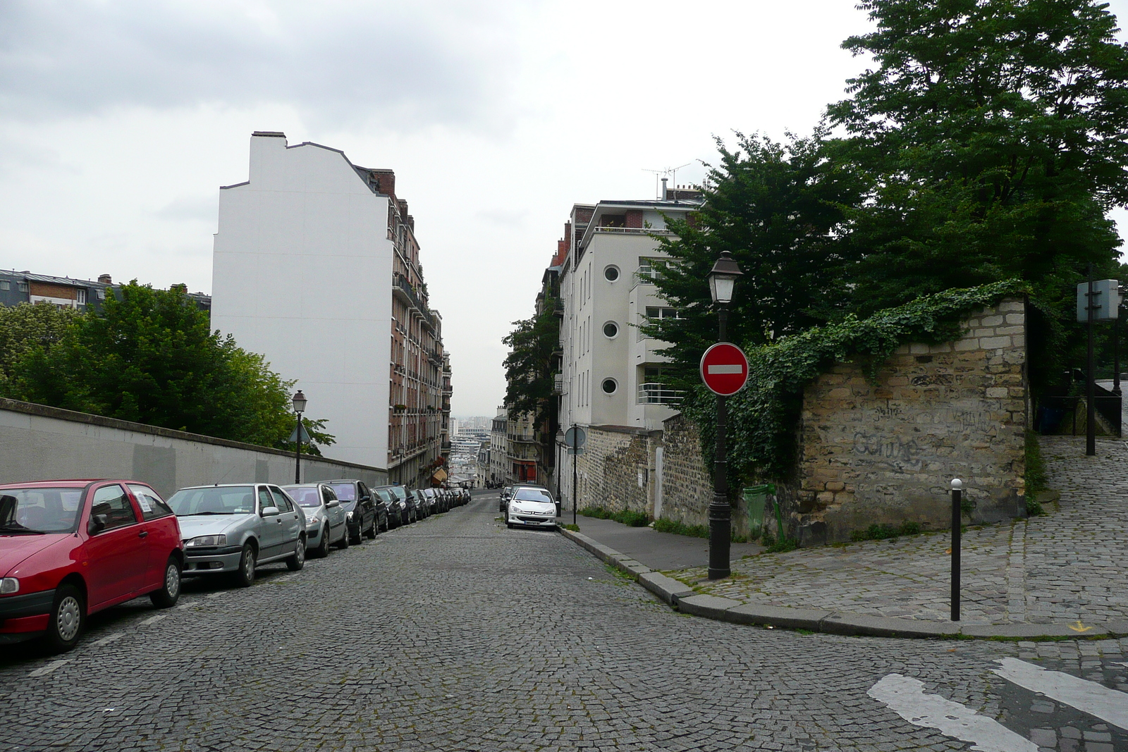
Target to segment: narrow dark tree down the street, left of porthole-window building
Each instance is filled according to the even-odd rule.
[[[553,398],[553,353],[559,348],[561,334],[555,308],[556,300],[547,298],[540,313],[513,321],[513,330],[502,339],[510,348],[503,363],[505,405],[514,413],[532,413],[536,425],[545,421]]]

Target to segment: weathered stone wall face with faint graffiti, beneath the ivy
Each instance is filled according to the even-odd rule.
[[[1021,300],[973,313],[963,335],[906,345],[869,381],[839,363],[804,390],[793,521],[804,543],[873,523],[950,524],[949,480],[971,520],[1025,513],[1025,317]]]

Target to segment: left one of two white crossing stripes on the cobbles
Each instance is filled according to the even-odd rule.
[[[971,742],[980,752],[1038,752],[1038,745],[994,718],[942,698],[925,695],[924,682],[889,674],[866,692],[915,726],[935,728],[942,734]]]

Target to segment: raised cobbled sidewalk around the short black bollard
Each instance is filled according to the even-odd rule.
[[[1128,617],[1128,444],[1101,440],[1085,457],[1084,437],[1041,441],[1061,501],[1045,516],[963,533],[966,623]],[[946,620],[950,546],[949,533],[923,534],[749,557],[714,583],[705,567],[667,574],[744,602]]]

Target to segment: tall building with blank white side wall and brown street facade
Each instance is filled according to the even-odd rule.
[[[297,379],[309,415],[336,437],[328,454],[407,485],[428,480],[446,354],[391,170],[254,133],[248,179],[220,189],[211,316]]]

